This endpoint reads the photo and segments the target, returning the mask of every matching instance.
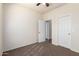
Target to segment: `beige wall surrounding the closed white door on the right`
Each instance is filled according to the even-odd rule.
[[[52,19],[52,43],[58,45],[58,17],[71,15],[71,48],[79,52],[79,4],[66,4],[46,13],[44,20]]]

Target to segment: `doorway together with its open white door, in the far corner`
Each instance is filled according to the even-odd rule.
[[[38,22],[38,42],[52,42],[51,20],[39,20]]]

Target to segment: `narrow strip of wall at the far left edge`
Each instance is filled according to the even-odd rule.
[[[2,4],[0,4],[0,56],[2,55]]]

